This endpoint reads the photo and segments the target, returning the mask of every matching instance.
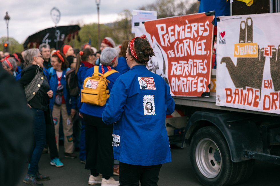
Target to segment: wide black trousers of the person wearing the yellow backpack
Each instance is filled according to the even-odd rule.
[[[102,118],[83,115],[85,121],[85,169],[100,173],[103,177],[113,176],[113,125],[103,123]]]

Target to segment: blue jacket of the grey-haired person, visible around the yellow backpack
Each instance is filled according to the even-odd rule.
[[[86,73],[85,73],[85,78],[89,77],[89,76],[92,76],[93,71],[94,71],[94,67],[89,68],[86,71]],[[102,73],[101,66],[99,66],[98,71],[99,71],[99,73]],[[108,71],[107,67],[104,66],[104,73],[106,73],[107,71]],[[108,83],[109,93],[111,92],[111,89],[113,87],[113,84],[114,84],[115,80],[120,75],[121,74],[119,72],[115,72],[115,73],[112,73],[111,75],[109,75],[108,77],[106,77],[106,79],[108,79],[110,81],[110,83]],[[83,86],[82,86],[82,89],[83,89]],[[107,103],[108,103],[108,100],[109,99],[107,99]],[[81,101],[81,96],[79,98],[79,101]],[[105,106],[106,105],[100,107],[100,106],[96,106],[96,105],[90,105],[90,104],[87,104],[87,103],[82,103],[81,109],[79,111],[81,113],[84,113],[84,114],[87,114],[87,115],[91,115],[91,116],[96,116],[96,117],[101,117],[102,118],[102,113],[103,113],[103,110],[105,109]]]

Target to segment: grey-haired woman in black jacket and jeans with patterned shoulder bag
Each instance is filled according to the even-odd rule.
[[[25,91],[27,105],[33,113],[35,145],[30,159],[30,166],[23,182],[31,185],[43,185],[37,181],[49,180],[50,178],[39,173],[38,163],[46,144],[45,112],[47,111],[49,98],[53,97],[53,91],[50,90],[47,77],[43,74],[44,60],[39,49],[32,48],[27,50],[24,59],[27,67],[21,72],[19,83]]]

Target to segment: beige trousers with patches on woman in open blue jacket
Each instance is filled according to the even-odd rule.
[[[64,152],[73,153],[74,143],[73,143],[73,122],[71,115],[68,115],[66,104],[53,105],[53,122],[55,124],[55,140],[57,150],[59,150],[59,123],[60,123],[60,113],[62,116],[63,133],[64,133]]]

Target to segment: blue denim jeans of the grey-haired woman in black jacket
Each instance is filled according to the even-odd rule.
[[[46,144],[46,122],[44,111],[40,109],[31,109],[33,114],[33,135],[35,139],[34,148],[30,160],[28,174],[36,174],[39,171],[38,163],[41,158],[42,151]]]

